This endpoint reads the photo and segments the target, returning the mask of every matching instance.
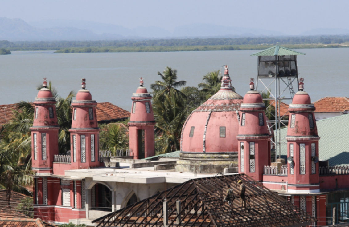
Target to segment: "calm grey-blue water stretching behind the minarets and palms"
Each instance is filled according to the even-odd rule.
[[[349,96],[349,48],[301,49],[298,72],[305,91],[316,101],[324,96]],[[249,79],[257,76],[256,50],[148,53],[74,53],[53,51],[12,52],[0,56],[0,104],[33,101],[43,77],[51,80],[61,96],[78,91],[81,78],[97,102],[111,102],[131,109],[131,96],[144,77],[144,85],[159,80],[166,66],[178,70],[178,79],[197,86],[202,76],[229,65],[232,85],[244,95]],[[259,88],[260,89],[260,88]],[[149,89],[150,90],[150,89]]]

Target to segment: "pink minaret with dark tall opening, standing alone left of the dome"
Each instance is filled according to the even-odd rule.
[[[155,155],[154,144],[154,113],[151,108],[151,95],[143,87],[143,77],[140,87],[132,96],[132,110],[129,125],[129,148],[134,159],[142,159]]]

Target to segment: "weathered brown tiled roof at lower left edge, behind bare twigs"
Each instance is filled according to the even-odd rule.
[[[14,218],[23,217],[26,218],[24,214],[17,212],[17,205],[21,202],[21,199],[30,197],[23,195],[21,193],[12,191],[10,206],[8,205],[6,198],[6,189],[0,190],[0,218]],[[0,225],[1,226],[1,225]]]

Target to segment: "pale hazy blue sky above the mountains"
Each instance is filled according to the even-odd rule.
[[[126,28],[208,23],[298,34],[349,29],[349,1],[322,0],[0,0],[0,16],[26,22],[80,19]]]

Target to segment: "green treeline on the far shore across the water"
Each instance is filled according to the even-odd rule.
[[[262,45],[265,48],[267,45],[273,46],[280,44],[286,45],[331,45],[349,42],[349,36],[302,36],[302,37],[255,37],[255,38],[195,38],[195,39],[152,39],[152,40],[98,40],[98,41],[15,41],[7,40],[0,41],[0,48],[7,48],[9,50],[62,50],[69,48],[91,48],[101,50],[98,52],[116,51],[121,47],[132,47],[140,50],[140,47],[147,47],[149,50],[144,51],[159,51],[161,47],[171,49],[170,47],[181,47],[176,49],[189,50],[192,46],[197,46],[198,50],[203,47],[208,49],[217,46],[217,48],[228,49],[250,45],[255,47]],[[105,51],[102,51],[104,47]],[[312,46],[313,47],[313,46]],[[131,48],[131,49],[132,49]],[[147,49],[144,48],[144,49]],[[213,49],[217,49],[213,48]],[[129,48],[126,48],[129,49]],[[154,49],[154,50],[153,50]],[[235,49],[235,48],[234,48]],[[245,49],[245,48],[244,48]],[[89,50],[89,49],[88,49]],[[122,48],[119,49],[122,51]],[[205,49],[202,49],[205,50]],[[74,49],[75,51],[75,49]],[[160,50],[161,51],[161,50]],[[162,50],[163,51],[163,50]],[[168,51],[173,51],[168,50]]]

